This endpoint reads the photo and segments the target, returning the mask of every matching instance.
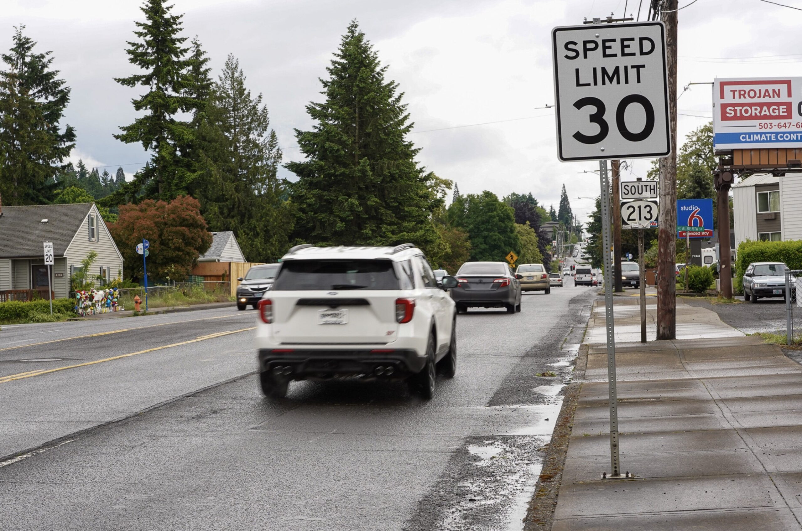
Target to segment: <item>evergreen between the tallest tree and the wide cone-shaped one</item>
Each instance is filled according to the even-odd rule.
[[[249,261],[276,261],[290,243],[293,216],[277,176],[282,151],[261,94],[245,87],[233,55],[199,120],[199,172],[190,187],[209,229],[232,230]]]

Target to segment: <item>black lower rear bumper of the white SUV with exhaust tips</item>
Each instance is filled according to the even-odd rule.
[[[259,349],[260,371],[290,379],[399,379],[423,371],[426,358],[414,349]],[[389,369],[389,374],[388,374]]]

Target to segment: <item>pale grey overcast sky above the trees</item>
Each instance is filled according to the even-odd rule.
[[[680,0],[685,6],[691,0]],[[461,193],[533,193],[545,208],[565,184],[574,212],[585,217],[598,194],[595,162],[557,160],[550,30],[614,13],[638,16],[639,0],[176,0],[184,36],[197,35],[217,77],[233,53],[248,86],[261,92],[285,160],[298,160],[293,129],[309,128],[304,106],[320,101],[318,77],[351,18],[390,65],[406,93],[420,161],[456,181]],[[784,0],[799,6],[799,0]],[[112,135],[136,117],[130,100],[141,89],[112,79],[134,72],[125,42],[135,0],[4,0],[0,48],[13,26],[26,25],[38,51],[72,87],[64,123],[78,143],[72,159],[91,167],[119,165],[129,174],[148,159],[138,144]],[[641,20],[649,0],[643,0]],[[715,77],[802,75],[802,10],[760,0],[697,0],[679,11],[678,93]],[[678,100],[682,139],[711,116],[711,87],[690,87]],[[695,116],[690,116],[695,115]],[[502,121],[504,120],[504,121]],[[485,124],[487,122],[500,122]],[[472,125],[483,124],[483,125]],[[456,126],[470,126],[458,127]],[[444,129],[449,128],[449,129]],[[432,129],[441,129],[431,131]],[[680,140],[681,142],[681,140]],[[630,160],[624,176],[646,176],[649,160]],[[285,176],[293,178],[284,171]]]

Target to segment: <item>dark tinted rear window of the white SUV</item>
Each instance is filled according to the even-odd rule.
[[[390,260],[288,260],[276,290],[398,290]]]

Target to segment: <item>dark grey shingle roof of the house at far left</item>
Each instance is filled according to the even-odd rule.
[[[40,256],[44,241],[52,241],[55,256],[63,256],[91,208],[92,203],[3,206],[0,258]]]

